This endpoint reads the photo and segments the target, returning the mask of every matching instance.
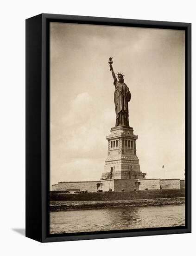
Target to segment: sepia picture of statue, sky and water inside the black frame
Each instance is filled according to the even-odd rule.
[[[50,234],[185,226],[185,31],[50,22]]]

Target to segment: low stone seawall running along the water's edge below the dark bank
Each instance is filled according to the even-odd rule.
[[[137,200],[113,200],[113,201],[50,201],[50,212],[105,209],[115,207],[144,207],[161,205],[185,204],[185,197],[151,198]]]

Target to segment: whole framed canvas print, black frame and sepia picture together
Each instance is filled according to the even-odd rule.
[[[26,236],[191,232],[191,24],[26,20]]]

